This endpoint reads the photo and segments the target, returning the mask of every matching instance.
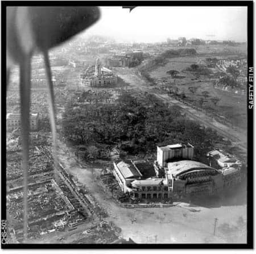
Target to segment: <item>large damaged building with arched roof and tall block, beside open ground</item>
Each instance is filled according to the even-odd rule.
[[[193,160],[193,156],[194,147],[189,143],[159,146],[154,163],[146,160],[115,161],[113,174],[123,192],[129,193],[130,197],[172,201],[220,195],[230,182],[230,176],[236,176],[240,170],[239,163],[236,170],[231,167],[220,170]],[[234,164],[233,160],[229,162]]]

